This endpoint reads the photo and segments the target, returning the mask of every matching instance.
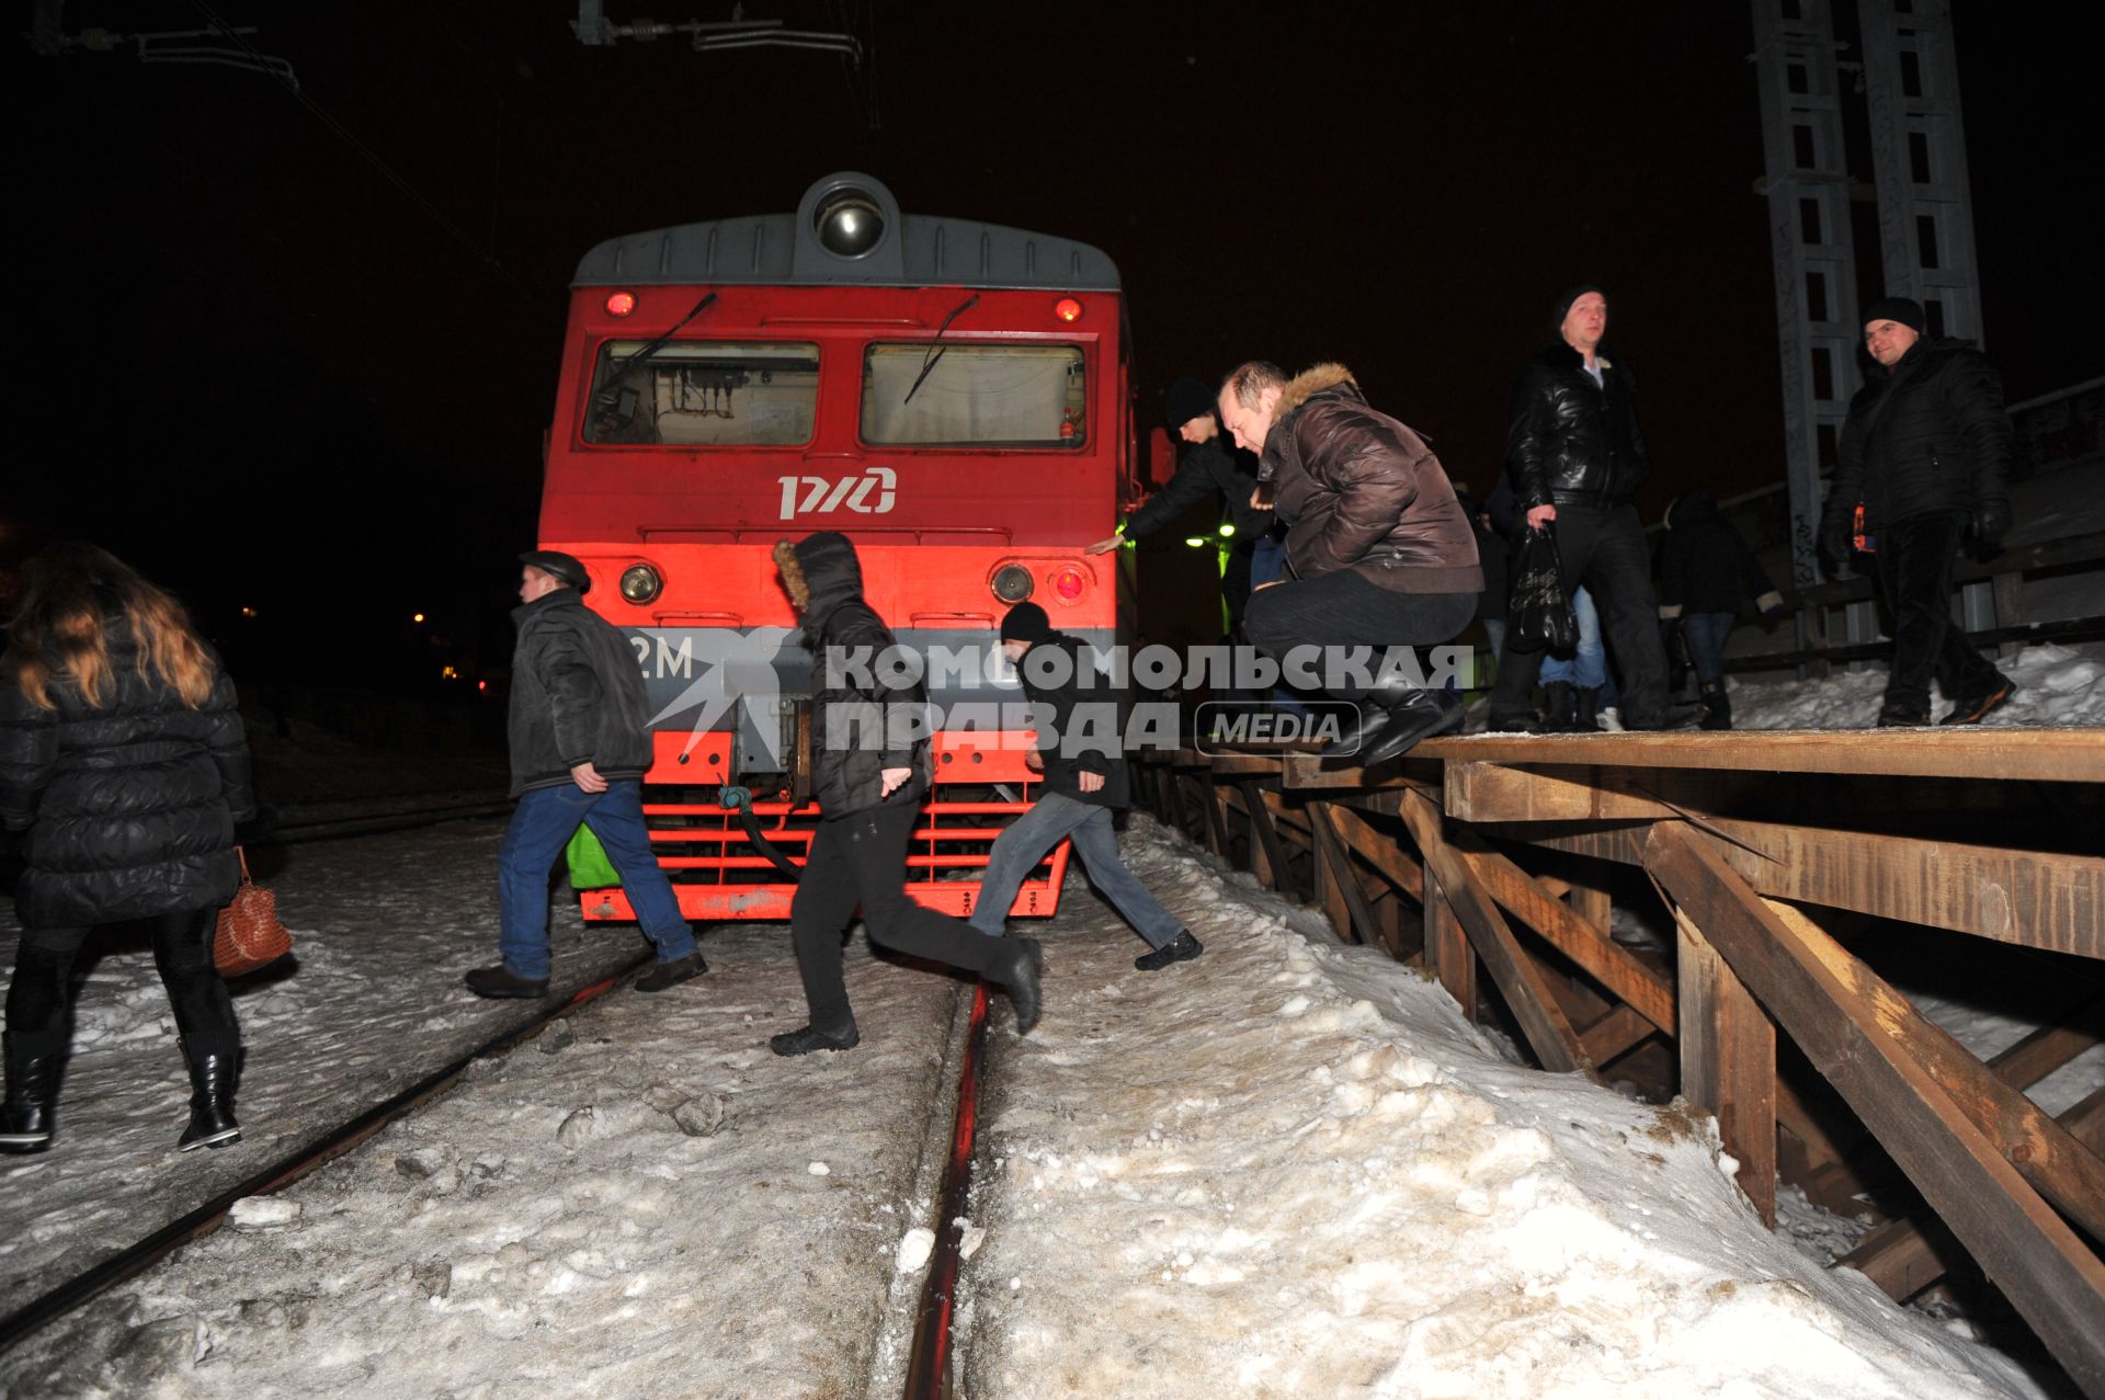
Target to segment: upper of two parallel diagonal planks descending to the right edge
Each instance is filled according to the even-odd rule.
[[[2036,1192],[2105,1240],[2105,1160],[2099,1154],[1974,1059],[1951,1032],[1916,1011],[1913,1002],[1836,943],[1808,914],[1775,899],[1766,903],[1855,998],[1876,1011],[1880,1027],[1916,1057]]]

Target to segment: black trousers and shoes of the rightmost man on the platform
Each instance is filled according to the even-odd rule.
[[[1930,712],[1930,676],[1951,703],[1981,699],[2004,684],[1951,623],[1951,573],[1958,568],[1966,512],[1945,509],[1899,520],[1878,533],[1878,592],[1892,613],[1892,674],[1886,707]]]

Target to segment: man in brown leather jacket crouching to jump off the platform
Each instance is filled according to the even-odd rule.
[[[1250,594],[1244,632],[1271,657],[1295,646],[1440,646],[1476,617],[1484,571],[1469,516],[1425,440],[1368,406],[1343,364],[1288,381],[1250,360],[1221,385],[1221,423],[1259,453],[1259,476],[1286,524],[1280,579]],[[1452,691],[1423,676],[1330,686],[1360,722],[1324,752],[1387,762],[1461,724]]]

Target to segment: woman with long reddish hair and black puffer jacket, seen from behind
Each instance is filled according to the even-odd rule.
[[[213,968],[217,914],[255,817],[234,682],[175,598],[95,545],[21,573],[0,655],[0,819],[27,832],[23,935],[6,992],[0,1152],[51,1145],[72,1034],[74,956],[97,924],[141,920],[189,1065],[179,1147],[225,1147],[240,1034]]]

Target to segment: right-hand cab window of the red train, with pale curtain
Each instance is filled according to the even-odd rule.
[[[871,345],[863,442],[1082,446],[1088,398],[1076,345]]]

